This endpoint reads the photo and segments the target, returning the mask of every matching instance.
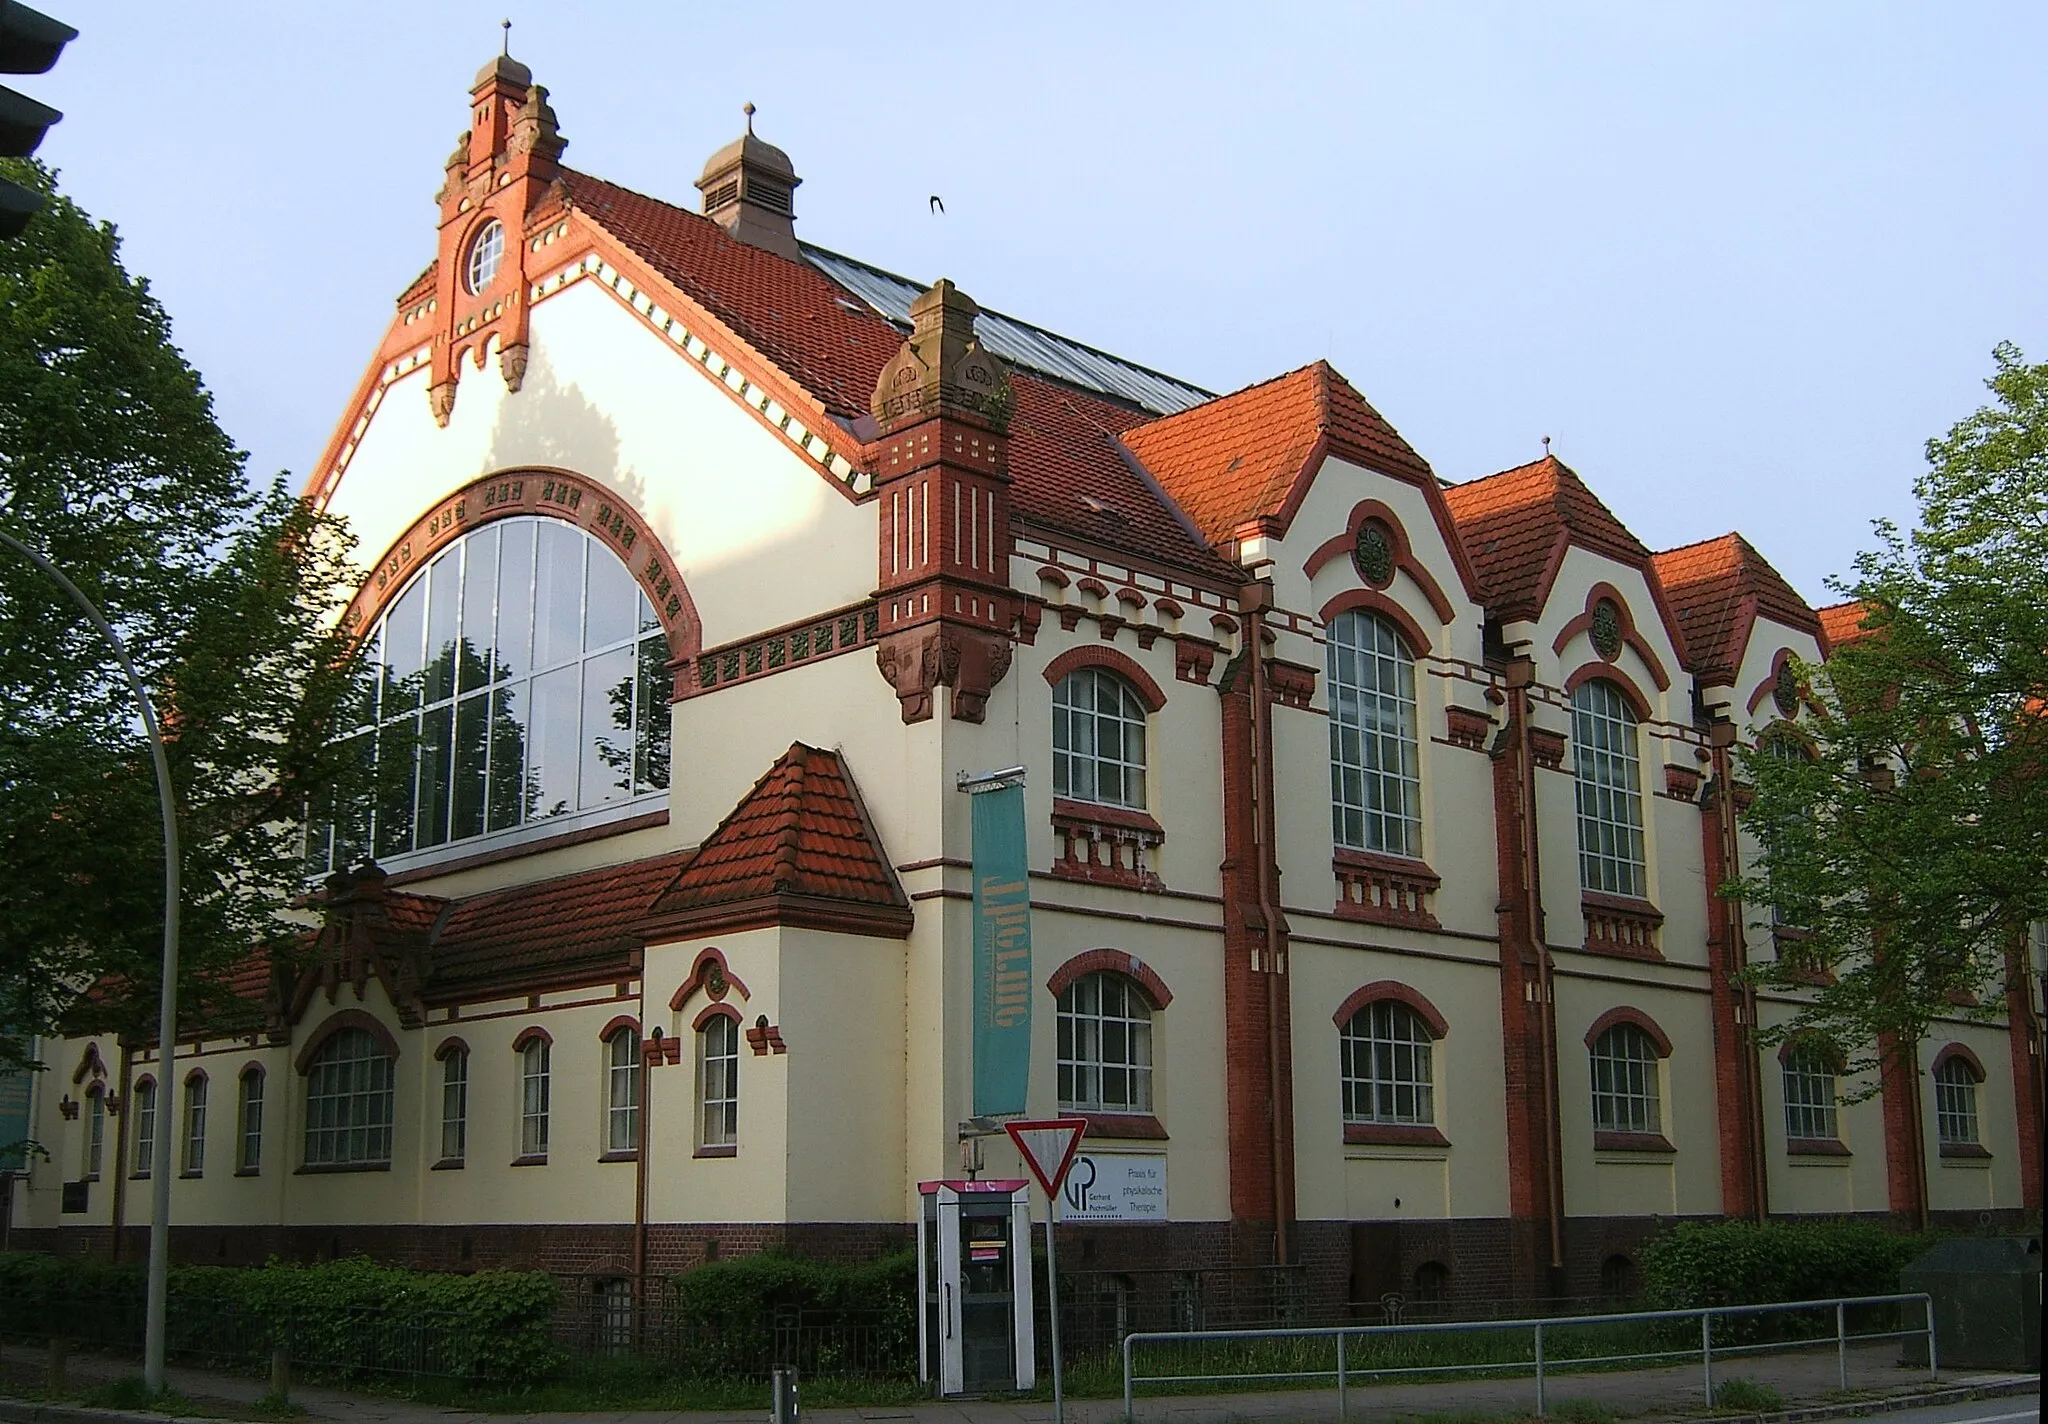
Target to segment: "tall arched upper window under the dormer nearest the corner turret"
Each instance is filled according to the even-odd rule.
[[[1329,623],[1329,820],[1339,846],[1421,854],[1415,654],[1386,619]]]

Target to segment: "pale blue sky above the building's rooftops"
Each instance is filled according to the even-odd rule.
[[[432,256],[504,14],[571,166],[694,207],[752,100],[811,242],[1212,389],[1327,357],[1448,479],[1550,434],[1651,547],[1741,529],[1817,602],[1993,344],[2048,359],[2038,0],[37,2],[82,31],[16,82],[41,156],[258,475]]]

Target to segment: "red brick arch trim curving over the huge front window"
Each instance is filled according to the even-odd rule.
[[[510,240],[510,232],[506,238]],[[645,590],[668,637],[670,658],[696,654],[702,621],[696,617],[690,590],[676,570],[676,559],[662,547],[662,539],[625,496],[590,475],[551,465],[500,469],[471,479],[442,498],[377,559],[371,576],[362,580],[362,588],[350,600],[348,613],[342,615],[342,625],[358,633],[367,631],[385,604],[444,545],[489,520],[514,514],[547,514],[596,537]]]

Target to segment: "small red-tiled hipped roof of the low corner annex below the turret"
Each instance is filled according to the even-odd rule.
[[[799,924],[909,934],[911,910],[838,752],[791,744],[653,904],[655,932]]]

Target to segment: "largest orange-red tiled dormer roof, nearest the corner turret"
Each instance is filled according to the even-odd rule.
[[[1434,484],[1427,461],[1327,361],[1151,420],[1124,434],[1210,543],[1286,518],[1319,449]]]

